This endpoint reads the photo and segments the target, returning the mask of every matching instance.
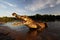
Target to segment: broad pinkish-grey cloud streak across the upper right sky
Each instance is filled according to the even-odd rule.
[[[34,0],[32,4],[25,7],[26,10],[36,11],[47,7],[54,7],[60,3],[60,0]]]

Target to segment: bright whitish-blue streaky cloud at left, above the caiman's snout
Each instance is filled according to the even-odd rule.
[[[16,12],[20,15],[24,15],[26,11],[18,6],[19,5],[15,5],[7,1],[0,1],[0,10],[2,11],[1,15],[11,16],[13,12]]]

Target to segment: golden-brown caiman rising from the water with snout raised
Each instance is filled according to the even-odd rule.
[[[29,29],[38,29],[38,30],[44,30],[47,27],[47,23],[44,22],[36,22],[34,20],[32,20],[32,18],[24,15],[18,15],[16,13],[12,14],[13,16],[15,16],[17,19],[19,20],[23,20],[23,24],[26,25]]]

